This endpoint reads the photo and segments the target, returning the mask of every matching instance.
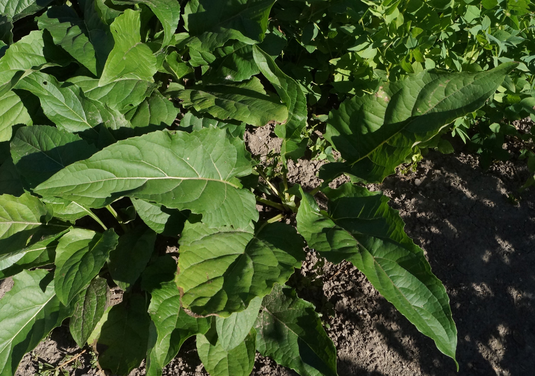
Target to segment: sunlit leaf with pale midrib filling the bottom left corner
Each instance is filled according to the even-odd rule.
[[[0,376],[12,376],[20,360],[71,315],[54,294],[52,273],[22,271],[0,300]]]

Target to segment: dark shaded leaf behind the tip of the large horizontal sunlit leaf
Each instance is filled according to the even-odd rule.
[[[19,128],[11,141],[13,163],[30,188],[96,151],[79,136],[46,125]]]

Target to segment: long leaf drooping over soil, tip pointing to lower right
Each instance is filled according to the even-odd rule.
[[[353,263],[372,285],[437,348],[455,360],[457,329],[442,283],[421,248],[403,231],[403,220],[378,192],[346,183],[324,193],[328,213],[303,194],[297,229],[327,260]]]

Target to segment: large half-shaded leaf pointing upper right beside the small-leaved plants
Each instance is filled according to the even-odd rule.
[[[326,168],[339,170],[331,175],[349,172],[364,181],[383,181],[416,144],[483,106],[516,65],[479,73],[422,72],[387,83],[375,94],[347,99],[330,113],[325,132],[347,162]]]

